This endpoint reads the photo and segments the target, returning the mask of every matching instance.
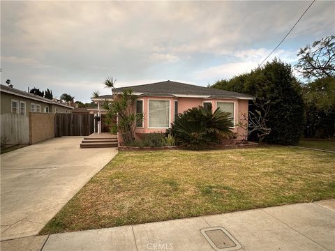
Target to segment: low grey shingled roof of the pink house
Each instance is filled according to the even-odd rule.
[[[237,98],[237,99],[253,99],[253,96],[234,91],[219,90],[193,84],[185,84],[174,81],[164,81],[152,84],[141,84],[137,86],[125,86],[117,88],[117,91],[124,89],[132,89],[133,93],[141,96],[177,96],[198,98]]]

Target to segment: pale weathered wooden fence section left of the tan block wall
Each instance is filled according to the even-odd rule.
[[[1,114],[1,139],[8,144],[29,144],[29,119],[20,114]]]

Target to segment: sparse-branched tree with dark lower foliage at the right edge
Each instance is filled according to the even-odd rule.
[[[305,137],[335,137],[335,36],[326,36],[301,48],[295,66],[305,103]]]

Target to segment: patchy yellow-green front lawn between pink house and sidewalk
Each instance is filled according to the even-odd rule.
[[[335,154],[286,146],[120,152],[40,234],[335,197]]]

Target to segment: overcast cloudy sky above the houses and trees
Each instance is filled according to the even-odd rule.
[[[89,102],[117,86],[175,80],[206,86],[249,72],[311,1],[1,1],[1,84]],[[315,1],[274,56],[334,34],[335,1]],[[273,56],[269,60],[273,59]]]

